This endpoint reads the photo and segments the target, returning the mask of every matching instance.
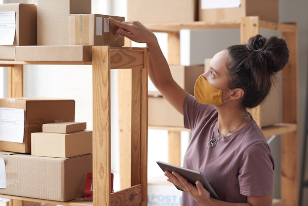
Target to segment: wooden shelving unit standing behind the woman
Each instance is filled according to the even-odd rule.
[[[282,70],[282,122],[262,128],[266,137],[281,135],[281,205],[298,205],[298,37],[296,23],[276,23],[260,20],[257,16],[243,17],[241,22],[186,22],[146,24],[153,32],[168,34],[168,63],[180,64],[180,30],[240,29],[241,43],[259,34],[260,29],[279,31],[286,39],[290,58]],[[251,111],[260,120],[260,107]],[[257,122],[261,126],[260,122]],[[184,128],[153,127],[169,132],[169,162],[180,165],[180,135]]]

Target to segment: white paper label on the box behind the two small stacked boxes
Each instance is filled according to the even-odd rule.
[[[0,141],[23,143],[24,109],[0,107]]]

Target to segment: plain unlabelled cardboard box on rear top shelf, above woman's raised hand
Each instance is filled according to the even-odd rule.
[[[127,20],[141,23],[193,22],[197,0],[127,0]]]

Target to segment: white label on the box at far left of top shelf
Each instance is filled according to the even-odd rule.
[[[0,45],[13,45],[15,38],[15,11],[0,12]]]

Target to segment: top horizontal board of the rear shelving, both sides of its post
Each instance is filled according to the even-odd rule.
[[[295,24],[284,24],[277,22],[269,22],[260,20],[259,27],[263,29],[279,30],[280,32],[296,31]],[[237,21],[221,21],[221,22],[176,22],[161,24],[145,24],[145,26],[153,32],[179,32],[183,29],[188,30],[208,30],[208,29],[240,29],[241,22]]]

